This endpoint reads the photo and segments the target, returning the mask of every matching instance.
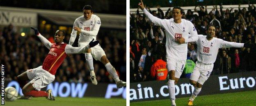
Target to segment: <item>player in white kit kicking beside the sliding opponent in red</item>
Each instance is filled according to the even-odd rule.
[[[77,31],[80,32],[80,36],[78,39],[78,47],[89,44],[89,42],[92,39],[96,40],[96,35],[98,34],[98,31],[101,26],[100,18],[97,15],[93,14],[93,9],[90,5],[85,5],[85,7],[83,7],[82,10],[84,15],[75,19],[71,37],[69,40],[69,44],[72,45],[75,41]],[[110,73],[112,78],[115,80],[117,88],[126,86],[126,82],[123,82],[119,79],[119,76],[117,75],[115,68],[110,64],[100,44],[98,44],[98,46],[94,46],[94,48],[90,48],[85,53],[85,59],[87,65],[89,66],[92,84],[98,84],[94,73],[92,57],[94,57],[95,60],[101,61],[105,65],[108,73]]]

